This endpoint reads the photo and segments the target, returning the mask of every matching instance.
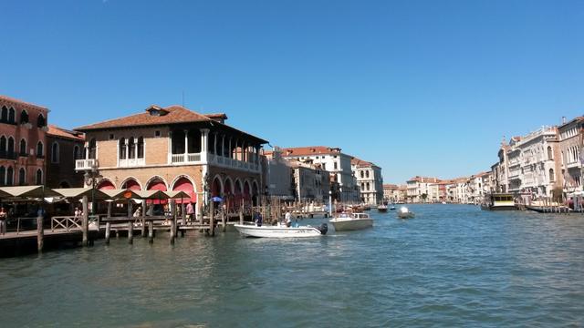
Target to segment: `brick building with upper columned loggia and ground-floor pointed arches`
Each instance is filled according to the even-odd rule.
[[[230,210],[256,203],[264,185],[260,150],[267,141],[181,106],[76,128],[86,135],[76,169],[99,170],[99,189],[183,190],[200,210],[221,197]]]

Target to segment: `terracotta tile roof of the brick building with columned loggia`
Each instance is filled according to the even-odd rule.
[[[176,123],[191,123],[191,122],[205,122],[211,121],[211,118],[195,113],[192,110],[183,108],[182,106],[170,106],[167,108],[160,108],[168,112],[166,115],[151,115],[151,110],[157,110],[159,107],[151,106],[147,108],[147,113],[134,114],[124,118],[114,118],[103,122],[90,124],[87,126],[75,128],[78,131],[90,131],[103,128],[126,128],[126,127],[145,127],[156,125],[167,125]]]

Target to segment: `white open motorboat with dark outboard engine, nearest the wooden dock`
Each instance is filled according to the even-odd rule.
[[[235,224],[235,229],[246,237],[264,237],[264,238],[300,238],[300,237],[317,237],[327,234],[327,223],[320,227],[311,226],[287,227],[286,225],[276,226],[256,226],[255,224]]]

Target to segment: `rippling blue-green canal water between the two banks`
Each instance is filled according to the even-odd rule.
[[[584,216],[411,209],[310,239],[120,238],[0,259],[0,325],[584,325]]]

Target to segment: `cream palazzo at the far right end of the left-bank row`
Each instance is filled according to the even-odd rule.
[[[383,200],[383,178],[381,168],[377,165],[362,160],[351,159],[351,169],[357,178],[357,185],[360,187],[361,202],[376,205]]]

